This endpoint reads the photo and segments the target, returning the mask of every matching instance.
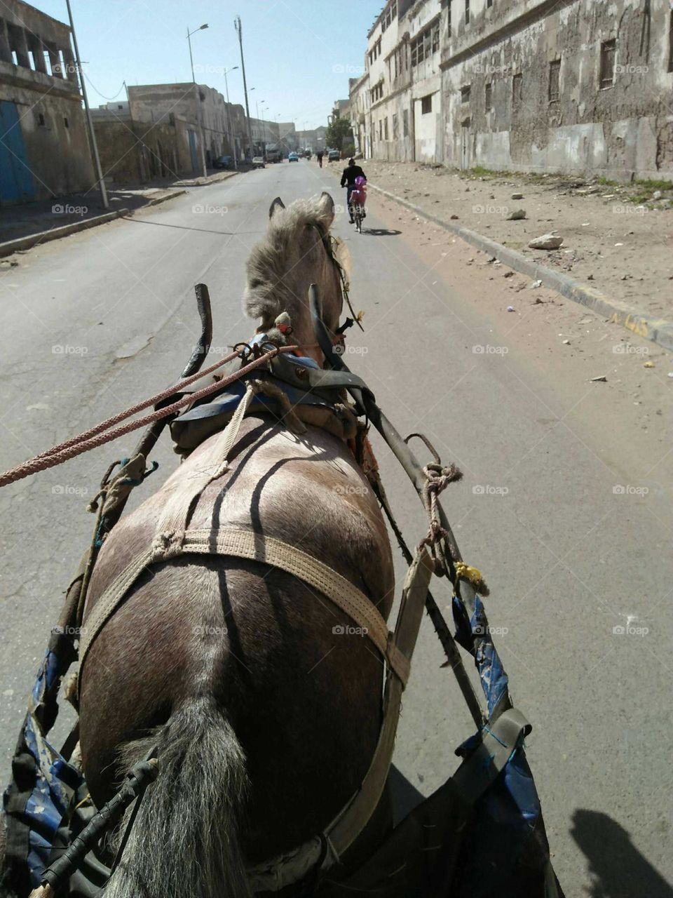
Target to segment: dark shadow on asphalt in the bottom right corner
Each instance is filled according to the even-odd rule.
[[[590,863],[590,898],[673,898],[673,888],[607,814],[577,810],[570,832]]]

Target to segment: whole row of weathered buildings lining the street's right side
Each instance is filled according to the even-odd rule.
[[[670,0],[389,0],[351,121],[377,159],[670,178],[671,96]]]

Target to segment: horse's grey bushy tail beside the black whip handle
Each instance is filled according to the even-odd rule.
[[[144,793],[105,898],[249,898],[238,838],[245,756],[222,709],[211,697],[188,700],[154,735],[125,746],[124,770],[153,744],[159,776]]]

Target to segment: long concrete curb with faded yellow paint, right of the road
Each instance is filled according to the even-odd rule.
[[[377,187],[371,182],[368,184],[369,189],[376,190],[384,197],[393,199],[400,206],[404,206],[416,215],[422,216],[427,221],[433,222],[434,225],[440,225],[445,230],[457,234],[465,242],[471,243],[479,250],[490,253],[497,260],[508,265],[511,269],[519,271],[522,275],[527,275],[533,280],[540,280],[542,283],[566,299],[572,299],[572,302],[585,305],[593,312],[603,315],[615,324],[623,325],[627,330],[631,330],[634,334],[644,339],[649,339],[652,343],[658,343],[660,347],[673,352],[673,321],[666,321],[663,318],[654,318],[644,312],[638,312],[631,306],[622,303],[617,299],[610,299],[606,295],[594,290],[587,284],[581,284],[579,281],[573,280],[572,277],[561,274],[554,269],[548,269],[546,265],[540,265],[534,260],[528,259],[516,250],[510,250],[503,246],[502,243],[496,243],[489,240],[488,237],[482,237],[476,231],[470,231],[467,227],[461,225],[452,225],[450,222],[443,221],[437,216],[433,216],[413,203],[409,203],[406,199],[397,197],[394,193]]]

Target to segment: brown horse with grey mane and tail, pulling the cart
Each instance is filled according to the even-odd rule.
[[[343,294],[328,251],[334,216],[327,193],[287,207],[276,198],[243,296],[258,332],[288,313],[292,342],[321,366],[307,295],[319,286],[335,334]],[[108,534],[84,627],[219,436]],[[226,470],[189,515],[190,528],[233,526],[301,549],[388,617],[394,576],[380,508],[345,440],[325,429],[298,435],[253,406]],[[325,594],[258,559],[182,554],[144,569],[93,641],[79,682],[83,772],[94,803],[109,800],[152,750],[160,764],[106,898],[249,896],[250,869],[292,852],[336,817],[363,782],[382,720],[383,660],[366,638],[349,635],[352,623]],[[332,881],[371,856],[390,828],[386,793],[330,868]],[[305,886],[281,894],[305,894]]]

